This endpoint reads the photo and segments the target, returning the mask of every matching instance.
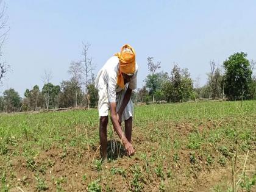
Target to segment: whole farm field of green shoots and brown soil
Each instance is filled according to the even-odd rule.
[[[0,115],[1,191],[256,190],[256,101],[136,106],[135,155],[109,123],[107,162],[98,126],[96,109]]]

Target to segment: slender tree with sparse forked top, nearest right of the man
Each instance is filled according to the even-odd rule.
[[[154,103],[155,91],[157,91],[157,89],[160,88],[160,81],[159,81],[160,79],[159,79],[159,76],[155,74],[155,71],[161,68],[160,66],[161,62],[154,63],[154,57],[148,57],[147,60],[148,60],[148,69],[149,69],[149,72],[151,72],[151,74],[149,74],[146,79],[146,87],[149,88],[149,93],[152,95],[152,99]]]

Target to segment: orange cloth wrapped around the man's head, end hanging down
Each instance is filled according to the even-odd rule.
[[[124,52],[126,48],[132,52]],[[129,74],[135,72],[135,50],[129,44],[124,44],[121,52],[116,53],[115,56],[119,58],[117,84],[124,89],[124,77],[122,73]]]

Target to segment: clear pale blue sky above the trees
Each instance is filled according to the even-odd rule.
[[[171,72],[174,63],[188,68],[193,79],[207,82],[210,60],[221,66],[235,52],[256,60],[256,1],[148,0],[60,1],[5,0],[10,31],[1,61],[11,66],[0,94],[14,88],[43,87],[44,70],[52,83],[70,79],[72,61],[82,59],[82,41],[96,64],[129,43],[137,55],[138,87],[149,74],[147,57]]]

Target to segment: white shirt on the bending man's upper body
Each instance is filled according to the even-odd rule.
[[[121,87],[117,85],[117,76],[118,76],[118,68],[119,68],[119,59],[116,56],[110,57],[110,59],[107,60],[105,65],[102,67],[102,69],[99,71],[96,80],[95,85],[96,88],[99,89],[99,87],[104,87],[102,85],[99,86],[100,82],[102,80],[99,80],[103,78],[103,82],[105,85],[107,85],[107,93],[108,93],[108,102],[116,102],[116,93],[122,90]],[[138,65],[135,64],[135,73],[133,74],[132,78],[130,79],[129,88],[131,90],[135,90],[137,88],[137,72],[138,72]]]

